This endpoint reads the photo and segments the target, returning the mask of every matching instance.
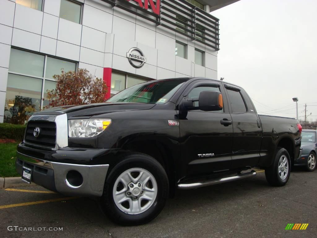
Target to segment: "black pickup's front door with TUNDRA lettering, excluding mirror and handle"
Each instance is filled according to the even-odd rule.
[[[183,175],[195,177],[228,170],[231,166],[232,124],[227,99],[222,84],[194,81],[185,89],[184,98],[198,98],[202,91],[223,93],[223,109],[220,111],[188,110],[179,118],[181,159]],[[188,93],[186,93],[186,90]],[[198,107],[195,102],[195,107]]]

